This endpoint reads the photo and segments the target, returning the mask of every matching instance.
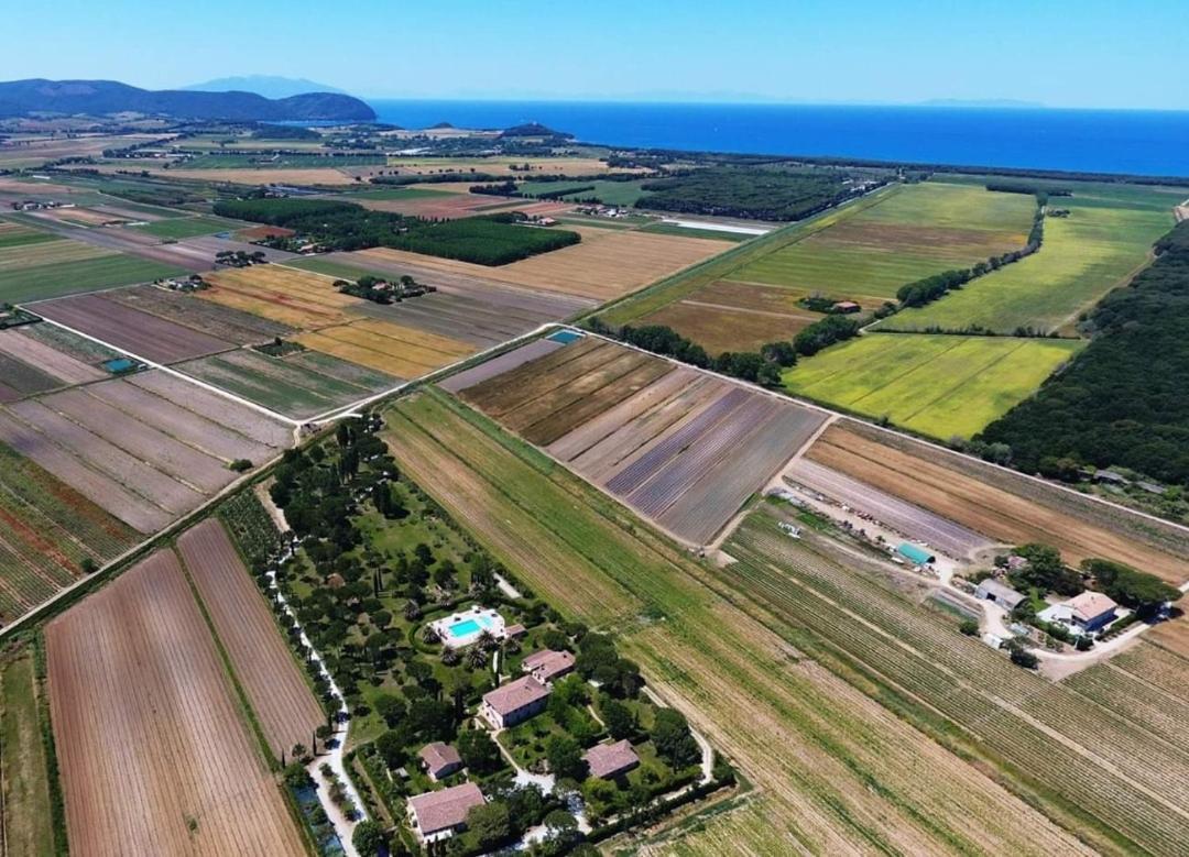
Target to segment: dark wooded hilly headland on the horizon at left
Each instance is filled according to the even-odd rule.
[[[304,93],[266,99],[247,92],[139,89],[117,81],[0,82],[0,116],[34,113],[92,116],[143,113],[234,121],[371,121],[375,111],[351,95]]]

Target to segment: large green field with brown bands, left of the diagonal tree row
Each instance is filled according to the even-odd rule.
[[[1024,246],[1036,201],[1026,194],[926,182],[850,209],[831,228],[766,254],[728,279],[891,298],[935,273]]]

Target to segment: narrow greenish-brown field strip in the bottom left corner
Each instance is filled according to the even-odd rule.
[[[0,653],[0,853],[56,853],[33,653]]]

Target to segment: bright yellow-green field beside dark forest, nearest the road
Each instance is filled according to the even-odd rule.
[[[970,437],[1076,354],[1076,340],[868,334],[787,370],[793,393],[946,440]]]

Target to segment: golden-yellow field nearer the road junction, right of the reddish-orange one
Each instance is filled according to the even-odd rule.
[[[342,360],[413,379],[470,357],[476,347],[388,321],[357,321],[304,333],[296,341]]]

